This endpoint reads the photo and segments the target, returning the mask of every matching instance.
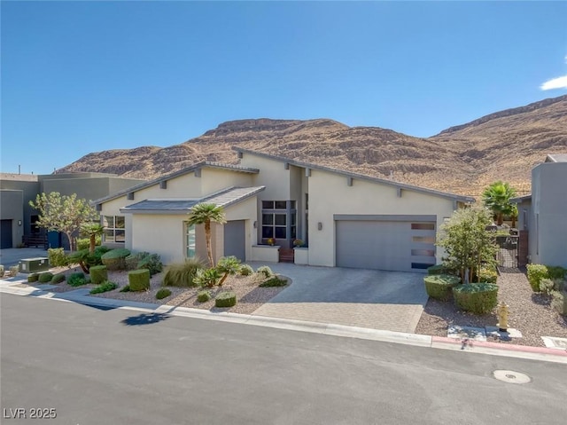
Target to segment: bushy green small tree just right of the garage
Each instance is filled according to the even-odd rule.
[[[481,265],[493,265],[496,243],[486,226],[492,224],[486,209],[470,208],[454,211],[439,228],[437,246],[444,248],[443,264],[460,273],[463,282],[476,275]]]

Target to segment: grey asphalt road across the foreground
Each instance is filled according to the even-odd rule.
[[[3,424],[567,421],[563,364],[17,295],[0,303]],[[531,382],[501,382],[497,369]]]

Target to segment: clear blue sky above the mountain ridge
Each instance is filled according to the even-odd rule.
[[[3,172],[245,118],[429,137],[567,93],[563,1],[3,1],[1,20]]]

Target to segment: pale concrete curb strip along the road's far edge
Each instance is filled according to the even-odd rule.
[[[75,292],[82,291],[82,292]],[[229,311],[213,312],[188,307],[173,307],[167,304],[137,303],[132,301],[115,300],[113,298],[98,298],[86,295],[87,289],[77,289],[71,293],[53,293],[41,289],[17,287],[0,287],[0,293],[34,296],[37,298],[81,303],[113,309],[143,311],[145,313],[168,314],[171,316],[191,319],[217,320],[223,322],[252,325],[258,327],[274,327],[311,334],[326,334],[347,338],[357,338],[370,341],[392,342],[404,345],[429,347],[437,350],[455,350],[478,354],[509,358],[526,358],[540,361],[567,364],[567,350],[532,347],[527,345],[503,344],[499,342],[478,342],[467,339],[454,339],[444,336],[423,334],[407,334],[403,332],[372,329],[369,327],[348,327],[332,323],[311,322],[306,320],[281,319],[252,314],[231,313]],[[73,294],[74,292],[74,294]]]

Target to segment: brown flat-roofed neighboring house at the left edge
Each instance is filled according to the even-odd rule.
[[[22,240],[45,239],[45,232],[35,225],[37,211],[29,206],[39,193],[76,193],[78,198],[91,201],[143,181],[105,173],[0,173],[0,248],[17,247]]]

